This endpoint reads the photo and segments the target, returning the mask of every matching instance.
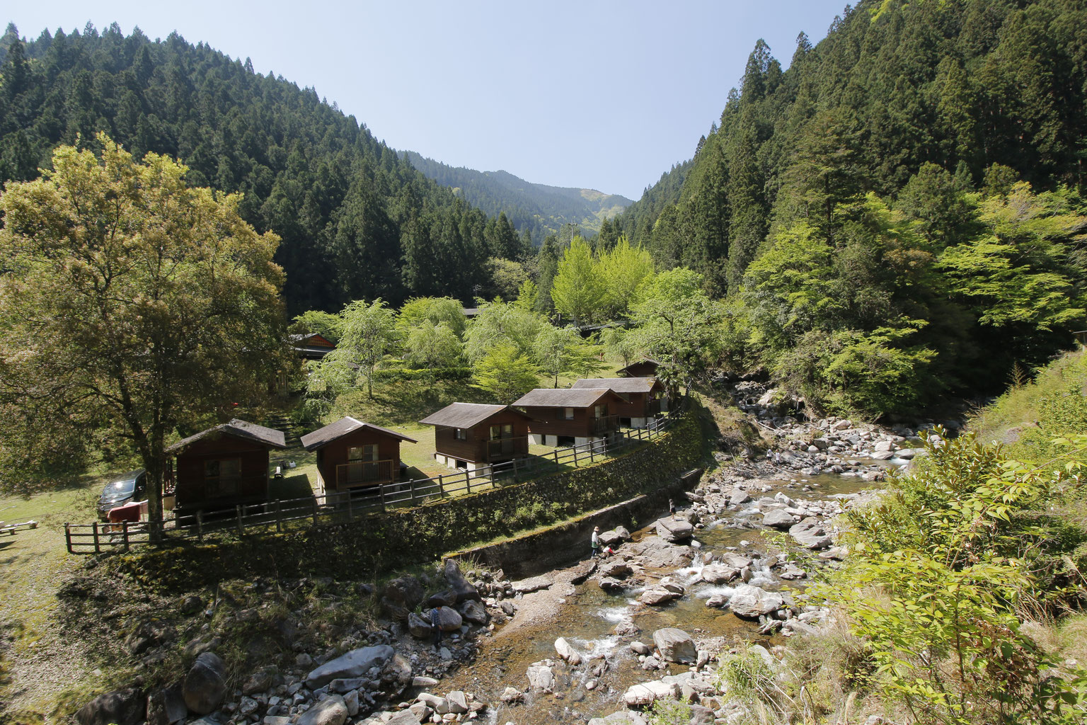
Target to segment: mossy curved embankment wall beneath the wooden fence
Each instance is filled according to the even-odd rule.
[[[148,586],[178,590],[254,575],[376,577],[674,482],[702,454],[698,410],[641,448],[596,465],[352,523],[140,551],[115,565]]]

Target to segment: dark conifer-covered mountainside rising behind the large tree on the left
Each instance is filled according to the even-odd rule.
[[[243,192],[246,221],[283,238],[291,312],[468,301],[489,287],[489,258],[525,251],[504,217],[424,177],[314,89],[203,43],[116,24],[24,42],[9,25],[0,62],[0,182],[35,177],[58,143],[92,146],[99,130],[137,155],[180,158],[190,183]]]

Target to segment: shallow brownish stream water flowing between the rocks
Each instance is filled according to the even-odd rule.
[[[773,488],[764,493],[752,491],[753,498],[785,491],[794,498],[826,500],[835,495],[873,487],[871,482],[861,477],[832,474],[810,479],[789,477],[760,483]],[[804,485],[811,486],[811,490],[802,490]],[[667,512],[660,515],[667,515]],[[742,511],[728,512],[725,517],[696,530],[695,539],[701,543],[699,552],[736,550],[744,553],[749,549],[765,552],[767,542],[762,538],[765,529],[742,527]],[[639,540],[651,534],[652,525],[635,532],[634,538]],[[707,598],[726,591],[728,587],[698,582],[700,571],[698,562],[680,570],[647,570],[650,580],[671,575],[687,587],[687,593],[682,599],[664,607],[641,604],[638,596],[644,587],[609,593],[600,589],[595,578],[589,578],[573,587],[573,593],[563,592],[564,602],[557,614],[545,623],[521,626],[507,634],[499,629],[490,637],[480,638],[475,662],[445,677],[439,688],[443,692],[463,689],[486,699],[492,703],[487,711],[488,722],[496,725],[508,722],[516,725],[584,723],[590,717],[623,709],[622,696],[629,686],[686,671],[686,667],[676,664],[670,664],[667,671],[641,670],[637,655],[628,647],[629,642],[637,639],[652,647],[657,629],[678,627],[696,641],[719,638],[726,648],[742,642],[773,645],[784,639],[760,635],[758,623],[740,620],[727,609],[705,607]],[[764,568],[754,572],[750,584],[767,590],[797,590],[805,582],[780,582]],[[633,637],[616,635],[615,628],[622,623],[633,623],[640,633]],[[559,637],[565,637],[587,653],[587,663],[570,667],[559,660],[554,651],[554,640]],[[594,659],[598,657],[603,659]],[[502,703],[499,696],[505,687],[523,691],[528,689],[525,675],[528,666],[545,659],[554,663],[554,693],[526,692],[523,703]],[[600,673],[604,663],[604,671]],[[596,687],[589,689],[589,683],[595,683]]]

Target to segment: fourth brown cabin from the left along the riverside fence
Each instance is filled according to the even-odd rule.
[[[536,388],[513,404],[532,418],[529,442],[577,446],[619,430],[615,410],[627,402],[609,388]]]

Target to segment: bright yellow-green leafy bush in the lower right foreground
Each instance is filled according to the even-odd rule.
[[[1087,673],[1050,661],[1022,623],[1083,601],[1087,534],[1037,511],[1083,498],[1087,439],[1039,467],[969,435],[926,450],[919,472],[849,514],[848,566],[820,591],[866,641],[872,686],[919,722],[1082,722]]]

